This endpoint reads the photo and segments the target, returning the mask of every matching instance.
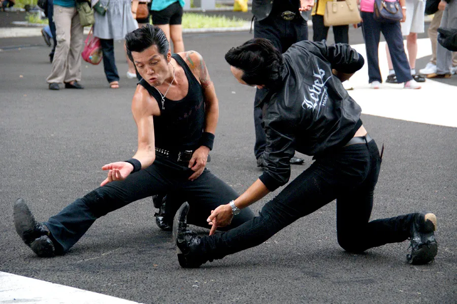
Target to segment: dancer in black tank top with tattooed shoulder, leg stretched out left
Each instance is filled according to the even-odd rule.
[[[192,51],[172,56],[165,33],[151,25],[128,33],[125,41],[143,78],[132,101],[137,153],[103,166],[108,177],[99,188],[46,222],[38,222],[23,199],[16,201],[16,231],[38,256],[67,252],[97,218],[146,197],[178,193],[194,211],[188,221],[203,227],[206,214],[238,197],[205,168],[219,109],[202,56]],[[172,205],[169,212],[178,208]],[[227,229],[253,217],[245,209]]]

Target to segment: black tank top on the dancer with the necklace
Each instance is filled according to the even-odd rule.
[[[205,124],[202,86],[181,56],[173,54],[172,57],[184,69],[189,83],[189,90],[183,99],[165,97],[165,109],[162,109],[162,97],[158,91],[144,79],[139,84],[157,100],[160,108],[160,116],[154,116],[155,146],[173,151],[195,150],[200,146]]]

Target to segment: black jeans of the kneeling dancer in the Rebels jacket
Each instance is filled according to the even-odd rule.
[[[228,232],[203,237],[196,252],[212,260],[262,244],[285,226],[335,199],[338,243],[347,251],[362,252],[410,236],[412,214],[369,222],[381,165],[374,140],[314,159],[262,208],[259,216]]]

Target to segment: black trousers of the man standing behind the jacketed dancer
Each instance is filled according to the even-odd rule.
[[[254,22],[254,38],[265,38],[284,53],[294,43],[308,40],[308,23],[302,17],[286,21],[279,16],[270,16]],[[262,90],[255,92],[255,101],[263,96]],[[254,107],[255,145],[254,155],[259,158],[267,146],[267,136],[262,128],[262,109]]]

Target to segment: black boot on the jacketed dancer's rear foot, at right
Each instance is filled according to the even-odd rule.
[[[414,265],[427,264],[438,252],[434,231],[436,216],[431,212],[419,212],[414,215],[411,223],[410,240],[411,254],[406,255],[408,263]]]

